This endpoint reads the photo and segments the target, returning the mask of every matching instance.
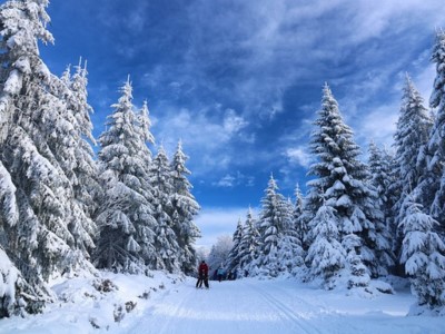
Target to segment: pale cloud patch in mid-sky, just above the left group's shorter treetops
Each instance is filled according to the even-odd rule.
[[[162,141],[171,153],[181,139],[186,154],[192,157],[189,164],[195,176],[224,171],[237,163],[234,161],[234,143],[251,143],[253,135],[245,131],[248,122],[233,109],[221,111],[220,106],[215,105],[201,110],[178,110],[168,101],[157,108],[159,111],[150,108],[151,131],[157,143]],[[217,117],[218,114],[224,117]],[[228,186],[229,181],[221,180],[221,185]]]

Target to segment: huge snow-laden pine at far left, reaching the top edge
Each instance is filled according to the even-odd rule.
[[[41,60],[38,40],[46,29],[47,0],[7,1],[0,7],[0,160],[14,186],[17,224],[3,224],[3,249],[40,296],[44,281],[78,268],[93,271],[92,247],[70,181],[76,124],[68,90]],[[88,224],[86,224],[88,225]]]

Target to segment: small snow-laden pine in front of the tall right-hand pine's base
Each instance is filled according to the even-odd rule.
[[[337,276],[346,265],[346,250],[339,243],[337,226],[338,215],[328,204],[318,208],[309,226],[313,243],[305,258],[309,267],[308,279],[323,278],[323,285],[327,289],[337,286]]]

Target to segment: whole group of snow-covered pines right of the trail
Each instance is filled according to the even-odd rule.
[[[408,276],[419,306],[445,306],[445,32],[437,31],[431,112],[406,75],[394,153],[370,143],[368,163],[330,88],[314,121],[307,194],[293,204],[270,177],[260,213],[238,222],[226,258],[237,276],[295,275],[370,291],[372,278]],[[421,307],[422,308],[422,307]],[[421,312],[421,311],[419,311]]]

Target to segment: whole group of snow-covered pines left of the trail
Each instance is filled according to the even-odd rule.
[[[0,318],[40,312],[61,275],[190,274],[200,236],[181,141],[151,156],[129,78],[95,156],[86,62],[58,77],[39,55],[48,3],[0,6]]]

